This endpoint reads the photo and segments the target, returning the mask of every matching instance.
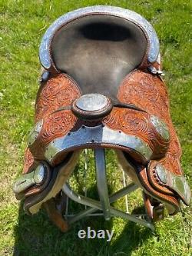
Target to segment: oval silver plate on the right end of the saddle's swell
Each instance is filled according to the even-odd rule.
[[[162,121],[156,115],[151,115],[150,120],[158,134],[161,135],[161,137],[164,138],[165,141],[168,141],[170,139],[170,134],[164,121]]]

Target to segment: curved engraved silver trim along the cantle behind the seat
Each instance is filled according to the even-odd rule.
[[[120,18],[125,18],[128,21],[133,22],[136,25],[139,25],[144,32],[146,33],[149,40],[149,49],[148,49],[148,62],[156,62],[159,55],[159,40],[157,34],[152,27],[152,25],[147,22],[147,20],[136,12],[114,6],[106,5],[95,5],[85,8],[79,8],[72,12],[68,12],[65,15],[59,17],[54,23],[50,25],[48,30],[45,32],[45,35],[41,39],[41,45],[39,47],[39,59],[41,65],[48,69],[51,68],[51,57],[49,54],[49,48],[51,44],[51,38],[58,31],[58,28],[66,25],[68,22],[72,22],[74,19],[81,18],[86,15],[113,15]]]

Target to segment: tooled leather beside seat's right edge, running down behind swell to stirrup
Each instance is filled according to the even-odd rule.
[[[167,88],[161,78],[148,72],[133,71],[122,81],[118,98],[123,103],[137,105],[149,115],[157,115],[165,122],[170,132],[165,165],[169,171],[182,175],[180,143],[170,118]]]

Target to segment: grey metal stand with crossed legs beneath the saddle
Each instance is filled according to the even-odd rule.
[[[138,224],[143,224],[145,227],[151,228],[151,230],[154,231],[154,224],[152,224],[151,218],[150,216],[147,216],[147,214],[131,215],[131,214],[125,213],[124,211],[120,211],[111,207],[110,205],[111,203],[113,203],[114,201],[117,201],[119,198],[126,196],[132,191],[135,191],[138,188],[138,186],[135,185],[134,183],[131,183],[130,185],[125,186],[124,188],[115,192],[109,197],[108,181],[107,181],[106,170],[105,170],[104,149],[103,148],[94,149],[94,156],[95,156],[96,176],[97,176],[97,185],[98,185],[98,193],[99,193],[100,201],[96,201],[91,198],[87,198],[85,196],[76,194],[68,185],[68,183],[65,183],[62,189],[65,192],[65,194],[67,194],[68,198],[71,198],[71,200],[76,201],[79,204],[84,204],[89,207],[87,209],[85,208],[84,211],[81,211],[78,214],[68,214],[68,204],[67,204],[65,218],[68,220],[68,223],[72,224],[75,221],[78,221],[81,218],[84,218],[87,216],[104,215],[104,219],[106,221],[110,220],[111,216],[121,217],[121,218],[127,219],[128,221],[133,221]],[[126,204],[126,208],[127,208],[127,204]],[[100,213],[93,214],[95,211],[98,211],[98,210],[103,211],[103,214],[100,214]],[[145,217],[146,220],[142,219],[143,217]]]

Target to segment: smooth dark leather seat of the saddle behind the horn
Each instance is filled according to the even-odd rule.
[[[146,48],[144,32],[133,22],[90,15],[55,34],[51,55],[55,67],[74,78],[83,94],[116,98],[122,79],[141,64]]]

